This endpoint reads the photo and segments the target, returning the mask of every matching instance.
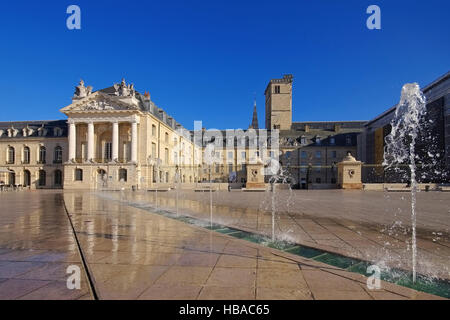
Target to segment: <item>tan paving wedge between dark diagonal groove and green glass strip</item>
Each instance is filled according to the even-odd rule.
[[[64,201],[100,299],[439,299],[96,194]]]

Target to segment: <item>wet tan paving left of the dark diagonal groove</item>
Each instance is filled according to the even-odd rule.
[[[62,193],[0,193],[0,299],[92,299]],[[81,289],[67,288],[68,266]]]

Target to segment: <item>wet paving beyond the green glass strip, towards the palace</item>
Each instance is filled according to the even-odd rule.
[[[176,210],[176,191],[105,192],[111,198]],[[271,236],[271,193],[213,192],[213,221]],[[373,262],[412,269],[408,193],[288,190],[275,195],[275,234],[283,240]],[[209,221],[209,193],[182,190],[178,209]],[[417,200],[418,266],[450,279],[450,193],[420,192]]]

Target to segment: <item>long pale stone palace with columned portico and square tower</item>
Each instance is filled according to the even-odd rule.
[[[95,92],[80,81],[72,103],[61,109],[67,120],[0,122],[0,184],[116,190],[206,181],[241,186],[247,164],[276,159],[297,187],[328,188],[336,187],[337,163],[348,153],[379,161],[379,155],[368,156],[379,148],[372,132],[391,111],[372,121],[293,122],[292,85],[292,75],[269,81],[266,129],[259,128],[255,102],[248,129],[211,131],[187,130],[148,92],[137,92],[125,80]],[[438,131],[442,157],[449,159],[449,73],[427,86],[429,92],[445,128]]]

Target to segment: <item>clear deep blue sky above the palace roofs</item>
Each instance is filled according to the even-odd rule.
[[[66,8],[81,8],[81,30]],[[381,8],[381,30],[366,8]],[[294,75],[294,121],[366,120],[402,84],[449,71],[449,1],[9,1],[0,11],[0,121],[61,119],[80,78],[122,77],[191,129],[246,128],[256,94]]]

